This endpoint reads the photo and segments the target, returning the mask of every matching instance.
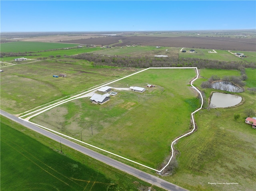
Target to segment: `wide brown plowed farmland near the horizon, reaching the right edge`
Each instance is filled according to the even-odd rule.
[[[122,40],[122,43],[118,43]],[[191,48],[207,48],[219,50],[234,51],[256,51],[256,39],[234,39],[226,37],[150,37],[150,36],[132,36],[132,37],[102,37],[79,39],[71,41],[62,41],[64,43],[80,43],[94,45],[111,45],[118,43],[118,46],[125,45],[150,45],[150,46],[166,46],[166,47],[191,47]]]

